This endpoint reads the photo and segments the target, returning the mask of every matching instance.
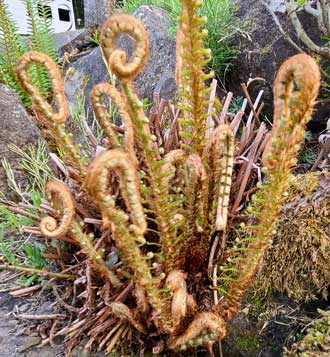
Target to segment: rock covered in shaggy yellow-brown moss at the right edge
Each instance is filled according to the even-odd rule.
[[[330,174],[292,176],[273,244],[255,290],[297,302],[327,297],[330,285]]]

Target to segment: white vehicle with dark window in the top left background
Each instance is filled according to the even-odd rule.
[[[31,0],[39,4],[38,0]],[[11,18],[15,21],[17,32],[29,35],[31,31],[28,25],[28,13],[24,0],[4,0]],[[49,21],[54,33],[75,30],[75,20],[72,0],[44,0],[42,2],[49,14]],[[41,7],[42,5],[38,5]]]

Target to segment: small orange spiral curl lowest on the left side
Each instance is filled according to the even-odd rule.
[[[47,238],[62,237],[71,228],[75,214],[71,193],[63,182],[57,180],[48,181],[45,191],[54,208],[60,211],[61,220],[58,224],[55,218],[44,217],[40,222],[41,233]]]

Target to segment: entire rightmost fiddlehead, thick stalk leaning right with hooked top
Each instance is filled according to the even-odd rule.
[[[274,223],[287,189],[290,168],[304,138],[320,86],[317,63],[305,54],[291,57],[280,68],[274,84],[274,127],[264,154],[267,183],[253,197],[247,212],[255,215],[257,224],[247,229],[247,247],[238,247],[236,271],[228,283],[227,296],[216,307],[225,319],[237,312],[244,292],[249,287],[260,259],[268,246]],[[222,277],[220,276],[222,279]],[[228,280],[228,279],[227,279]]]

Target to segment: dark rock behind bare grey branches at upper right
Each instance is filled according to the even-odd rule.
[[[285,13],[285,1],[268,0],[269,6],[282,24],[287,28],[288,20]],[[227,89],[233,91],[236,96],[243,95],[240,84],[246,83],[249,78],[262,78],[255,81],[249,92],[252,98],[256,98],[259,90],[263,89],[265,107],[263,113],[272,118],[273,96],[272,87],[275,75],[280,65],[297,51],[283,38],[272,16],[266,10],[261,1],[244,0],[237,5],[236,16],[242,21],[243,28],[249,33],[248,38],[237,39],[239,43],[238,57],[233,63],[231,75],[228,78]],[[311,38],[320,42],[319,30],[314,18],[305,11],[299,13],[300,20]],[[295,34],[289,26],[290,36],[296,41]],[[314,112],[311,128],[323,130],[327,119],[330,117],[330,109],[318,106]]]

